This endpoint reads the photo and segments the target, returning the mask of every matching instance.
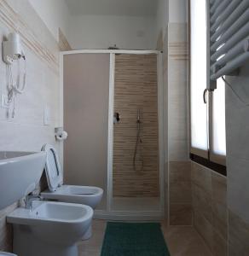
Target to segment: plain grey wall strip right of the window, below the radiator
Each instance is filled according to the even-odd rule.
[[[249,224],[249,61],[240,76],[228,77],[235,93],[226,86],[226,136],[229,210]]]

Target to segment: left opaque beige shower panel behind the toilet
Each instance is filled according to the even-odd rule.
[[[104,190],[107,209],[109,54],[64,55],[65,183]]]

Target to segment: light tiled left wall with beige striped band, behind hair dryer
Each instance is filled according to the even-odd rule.
[[[16,15],[9,15],[14,12]],[[8,20],[5,15],[9,15]],[[14,118],[8,118],[7,109],[0,108],[0,151],[40,151],[44,143],[60,149],[61,143],[55,142],[55,127],[60,125],[61,119],[58,44],[28,0],[1,1],[0,37],[6,37],[16,27],[20,35],[25,34],[22,42],[26,53],[26,90],[15,98]],[[6,65],[2,60],[0,51],[0,96],[6,96]],[[44,104],[50,110],[49,125],[43,124]],[[14,207],[17,204],[0,211],[0,251],[12,251],[13,237],[6,224],[6,215]]]

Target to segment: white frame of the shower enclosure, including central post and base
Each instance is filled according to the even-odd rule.
[[[164,148],[164,84],[163,61],[159,50],[128,50],[128,49],[78,49],[61,51],[60,53],[60,112],[61,126],[63,126],[63,56],[77,54],[108,54],[110,55],[109,67],[109,107],[108,107],[108,143],[107,143],[107,207],[105,210],[96,210],[95,218],[113,220],[159,220],[165,218],[165,148]],[[156,54],[158,77],[158,123],[159,123],[159,210],[155,211],[113,211],[113,110],[114,110],[114,79],[115,55],[149,55]],[[63,142],[62,142],[63,143]],[[63,145],[61,146],[61,159],[63,158]],[[63,170],[63,161],[61,161]]]

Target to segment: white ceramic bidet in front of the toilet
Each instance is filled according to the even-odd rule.
[[[84,205],[33,201],[7,216],[14,226],[14,253],[20,256],[78,256],[77,241],[90,227],[93,210]]]

